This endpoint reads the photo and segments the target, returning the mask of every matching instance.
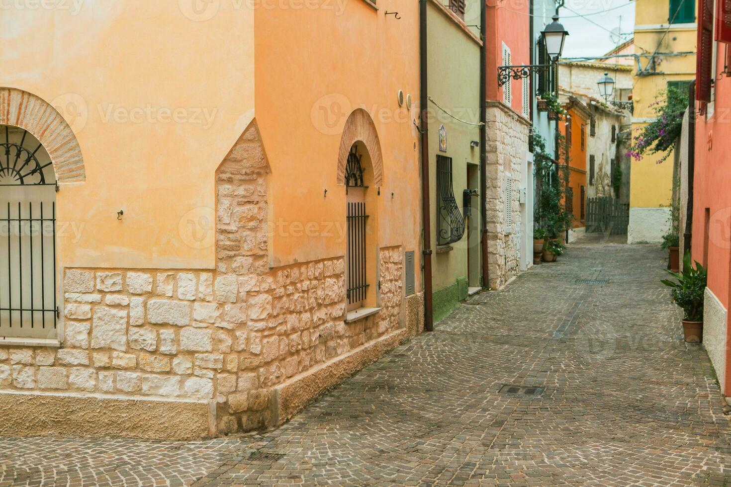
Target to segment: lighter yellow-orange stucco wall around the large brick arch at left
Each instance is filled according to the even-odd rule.
[[[56,107],[86,166],[56,196],[61,265],[213,268],[214,172],[254,117],[254,12],[235,3],[2,10],[0,86]]]

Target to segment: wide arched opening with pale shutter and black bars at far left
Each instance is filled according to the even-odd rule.
[[[0,337],[56,337],[57,188],[44,145],[0,124]]]

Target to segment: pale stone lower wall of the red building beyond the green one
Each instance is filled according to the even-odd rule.
[[[529,122],[497,101],[488,101],[487,188],[489,285],[499,289],[520,272],[520,188],[528,151]],[[507,193],[507,175],[512,192]],[[507,199],[512,226],[507,226]]]

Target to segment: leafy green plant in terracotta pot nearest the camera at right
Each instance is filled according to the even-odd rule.
[[[708,274],[702,265],[692,266],[690,251],[683,256],[683,272],[667,271],[677,282],[663,279],[672,289],[673,302],[683,309],[683,337],[688,343],[703,340],[703,294]]]

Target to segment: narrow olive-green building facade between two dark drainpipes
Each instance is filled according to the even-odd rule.
[[[480,1],[428,0],[434,321],[482,287],[479,25]]]

